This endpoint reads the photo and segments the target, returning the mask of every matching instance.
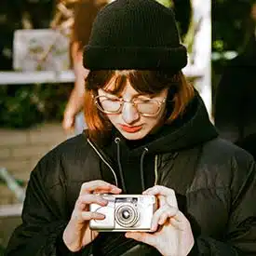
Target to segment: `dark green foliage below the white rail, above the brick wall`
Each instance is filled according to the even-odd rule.
[[[0,88],[0,127],[29,128],[61,121],[72,85],[22,85]]]

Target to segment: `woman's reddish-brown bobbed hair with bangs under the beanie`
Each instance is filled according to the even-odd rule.
[[[168,116],[167,122],[170,123],[177,116],[182,115],[185,107],[194,97],[195,92],[182,72],[176,74],[170,71],[91,71],[86,80],[85,97],[85,117],[88,125],[88,138],[92,141],[103,142],[109,138],[112,124],[108,117],[101,113],[94,103],[98,89],[104,88],[109,92],[118,94],[122,92],[127,81],[140,93],[156,94],[164,88],[169,88],[173,92],[171,99],[173,109]],[[114,84],[114,88],[108,85]]]

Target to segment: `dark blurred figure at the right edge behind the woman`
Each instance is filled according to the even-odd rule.
[[[245,27],[245,47],[226,65],[215,98],[215,126],[222,138],[256,157],[256,1]]]

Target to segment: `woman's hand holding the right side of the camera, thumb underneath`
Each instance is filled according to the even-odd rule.
[[[152,221],[154,233],[128,232],[126,236],[151,245],[165,256],[185,256],[194,246],[190,222],[178,209],[175,192],[164,186],[154,186],[143,195],[155,195],[159,208]]]

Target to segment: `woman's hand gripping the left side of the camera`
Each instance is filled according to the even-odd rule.
[[[107,200],[95,194],[119,194],[121,189],[103,181],[85,182],[75,202],[72,217],[63,233],[63,242],[71,251],[78,251],[93,241],[99,233],[89,229],[90,220],[103,220],[104,215],[89,211],[89,204],[107,205]],[[94,194],[93,194],[94,193]]]

